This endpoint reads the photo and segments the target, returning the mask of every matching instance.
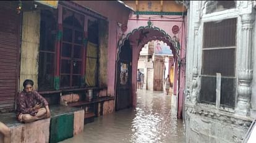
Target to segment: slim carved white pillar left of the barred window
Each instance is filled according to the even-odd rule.
[[[198,28],[199,28],[199,22],[195,22],[195,33],[194,33],[194,53],[193,53],[193,75],[192,75],[192,94],[190,95],[190,102],[192,104],[197,103],[197,80],[198,80],[198,66],[197,66],[197,59],[198,59]]]

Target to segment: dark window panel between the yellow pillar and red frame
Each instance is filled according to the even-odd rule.
[[[54,89],[56,11],[41,10],[38,91]]]

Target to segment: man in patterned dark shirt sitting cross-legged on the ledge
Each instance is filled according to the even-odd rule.
[[[32,80],[25,80],[24,89],[17,97],[17,118],[20,122],[30,123],[51,116],[48,102],[38,92],[33,91],[33,85]]]

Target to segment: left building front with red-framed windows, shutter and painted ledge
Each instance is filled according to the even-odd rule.
[[[127,25],[129,7],[119,1],[1,4],[0,120],[11,128],[11,142],[59,142],[115,111],[117,29]],[[48,100],[51,118],[23,124],[15,117],[26,79]]]

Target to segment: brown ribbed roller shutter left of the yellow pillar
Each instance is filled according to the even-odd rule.
[[[20,14],[16,2],[1,2],[0,112],[13,111],[19,74]]]

